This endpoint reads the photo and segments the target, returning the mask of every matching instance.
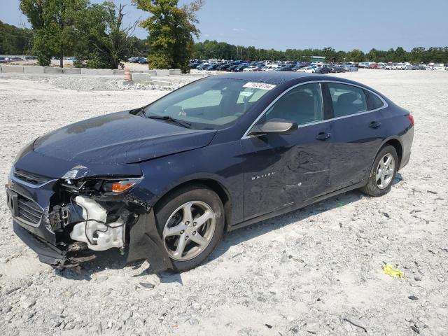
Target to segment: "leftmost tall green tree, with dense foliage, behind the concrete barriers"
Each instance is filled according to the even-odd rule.
[[[82,18],[88,0],[20,0],[20,10],[34,29],[33,52],[41,65],[49,65],[58,56],[70,55],[78,41],[76,23]]]

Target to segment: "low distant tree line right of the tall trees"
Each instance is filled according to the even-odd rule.
[[[250,61],[262,61],[265,59],[280,61],[307,62],[312,56],[323,56],[326,62],[411,62],[430,63],[448,62],[448,47],[423,48],[416,47],[410,51],[402,47],[389,50],[377,50],[372,48],[369,52],[354,49],[351,51],[336,51],[332,47],[323,49],[286,49],[285,51],[274,49],[244,47],[225,42],[209,41],[197,42],[193,48],[195,59],[244,59]]]

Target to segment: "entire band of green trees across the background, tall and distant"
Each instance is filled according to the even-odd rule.
[[[327,62],[448,62],[448,47],[401,47],[369,52],[323,49],[274,50],[209,41],[195,43],[200,31],[196,13],[203,0],[179,6],[178,0],[132,0],[134,6],[151,13],[139,22],[125,25],[125,6],[111,1],[20,0],[20,10],[31,29],[0,22],[0,54],[34,55],[46,66],[52,57],[76,57],[76,66],[117,69],[131,56],[148,56],[150,69],[189,71],[189,59],[295,60],[324,56]],[[134,36],[137,25],[148,30],[148,38]]]

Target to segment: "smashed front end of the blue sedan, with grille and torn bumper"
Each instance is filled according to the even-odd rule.
[[[132,195],[143,178],[85,175],[73,169],[48,179],[13,169],[6,190],[16,235],[57,268],[76,267],[95,251],[130,247],[127,262],[146,259],[153,269],[169,269],[153,211]]]

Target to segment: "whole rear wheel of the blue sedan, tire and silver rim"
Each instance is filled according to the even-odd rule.
[[[387,159],[391,158],[391,163],[387,164]],[[380,162],[383,162],[382,168],[380,167]],[[392,167],[393,165],[393,167]],[[383,172],[382,177],[381,172]],[[386,170],[384,170],[386,169]],[[372,197],[379,197],[386,195],[391,191],[391,186],[393,179],[395,179],[395,174],[398,170],[398,155],[395,148],[391,145],[386,145],[379,151],[377,157],[375,158],[372,169],[370,169],[369,179],[367,184],[360,188],[360,190]]]

